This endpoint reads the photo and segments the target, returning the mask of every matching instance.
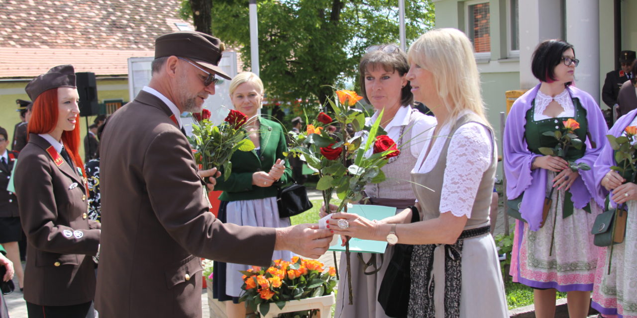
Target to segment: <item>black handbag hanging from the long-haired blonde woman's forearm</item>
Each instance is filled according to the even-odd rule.
[[[412,223],[420,221],[420,214],[412,208]],[[378,290],[378,303],[385,310],[385,315],[394,318],[407,317],[409,293],[412,287],[413,245],[396,244],[394,254],[389,260],[387,271]]]

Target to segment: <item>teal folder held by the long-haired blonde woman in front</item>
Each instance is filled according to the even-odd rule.
[[[348,213],[358,214],[366,219],[380,220],[396,215],[395,207],[385,207],[383,205],[362,205],[354,204],[347,209]],[[350,239],[350,252],[384,253],[387,241]],[[329,251],[345,252],[345,246],[341,246],[341,240],[334,246],[329,247]]]

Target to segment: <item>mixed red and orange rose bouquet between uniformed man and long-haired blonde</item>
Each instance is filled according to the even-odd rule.
[[[366,184],[385,180],[381,168],[400,151],[396,142],[383,134],[380,127],[382,112],[373,125],[366,127],[364,113],[353,107],[362,97],[348,90],[337,90],[336,95],[338,99],[328,100],[332,116],[319,113],[315,123],[308,125],[306,133],[296,136],[298,145],[290,147],[289,152],[300,155],[301,160],[318,174],[317,190],[322,191],[325,206],[329,207],[332,195],[336,192],[342,200],[337,211],[347,212],[348,204],[364,197]],[[331,129],[335,126],[336,129]],[[373,149],[372,155],[367,156],[369,149]],[[348,241],[345,243],[345,254],[347,272],[350,273]],[[347,276],[351,305],[351,275]]]

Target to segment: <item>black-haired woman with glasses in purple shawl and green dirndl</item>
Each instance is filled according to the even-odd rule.
[[[521,199],[511,275],[534,288],[536,317],[554,317],[556,290],[567,293],[570,317],[585,317],[597,264],[590,226],[603,200],[594,172],[573,171],[566,160],[593,167],[606,141],[606,124],[595,100],[571,86],[578,63],[569,43],[540,43],[531,68],[541,83],[515,101],[505,126],[506,194]],[[557,144],[543,133],[560,130],[569,119],[578,122],[574,134],[584,146],[568,149],[566,160],[542,155],[539,148]],[[545,197],[552,202],[543,220]]]

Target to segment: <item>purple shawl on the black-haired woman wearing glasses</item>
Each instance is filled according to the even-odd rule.
[[[601,207],[604,203],[603,196],[597,191],[595,181],[594,166],[595,160],[601,153],[601,148],[606,144],[606,122],[599,110],[598,104],[589,93],[579,88],[568,86],[566,88],[571,94],[571,98],[579,99],[584,109],[586,109],[586,120],[589,127],[589,135],[586,139],[586,151],[584,156],[576,163],[587,163],[591,170],[580,170],[580,176],[575,180],[569,192],[573,195],[573,206],[582,209],[593,198]],[[546,197],[547,170],[531,170],[533,158],[540,156],[529,151],[524,139],[524,127],[526,125],[526,112],[531,109],[531,102],[540,90],[540,85],[520,96],[511,108],[506,118],[505,137],[503,141],[504,170],[506,177],[506,196],[513,200],[522,193],[522,205],[520,214],[529,223],[529,228],[533,231],[540,229],[542,219],[542,207]],[[596,148],[590,146],[590,139],[595,142]]]

